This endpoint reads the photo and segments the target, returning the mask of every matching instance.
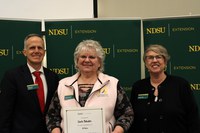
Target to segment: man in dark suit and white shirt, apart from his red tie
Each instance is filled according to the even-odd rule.
[[[0,84],[0,133],[48,133],[45,115],[57,89],[59,78],[42,66],[45,55],[42,36],[30,34],[24,40],[23,54],[27,64],[7,71]],[[34,84],[34,71],[43,81],[44,111],[40,109]]]

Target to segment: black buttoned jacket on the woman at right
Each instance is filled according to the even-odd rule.
[[[198,107],[189,83],[167,75],[158,91],[158,101],[154,102],[150,78],[133,85],[130,100],[135,117],[129,132],[200,133]]]

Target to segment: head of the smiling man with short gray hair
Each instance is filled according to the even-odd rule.
[[[23,54],[27,57],[27,62],[30,66],[33,68],[41,66],[45,55],[43,40],[37,36],[28,38],[26,40]]]

